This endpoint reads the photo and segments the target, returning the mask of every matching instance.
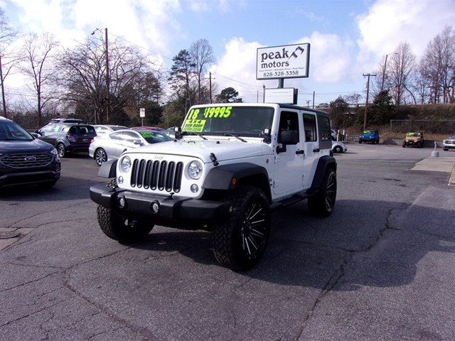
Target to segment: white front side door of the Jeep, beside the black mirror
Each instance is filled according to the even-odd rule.
[[[275,195],[286,195],[287,193],[299,192],[302,189],[304,148],[299,113],[287,109],[282,111],[280,115],[279,136],[285,130],[297,131],[299,136],[299,141],[296,144],[282,144],[278,136],[278,143],[282,144],[282,148],[277,148],[277,155],[275,156],[273,192]]]

